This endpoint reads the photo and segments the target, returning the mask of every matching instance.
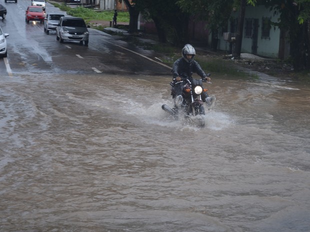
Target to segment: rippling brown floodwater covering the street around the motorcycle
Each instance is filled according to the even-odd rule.
[[[308,232],[309,86],[213,77],[206,127],[170,76],[1,77],[1,232]]]

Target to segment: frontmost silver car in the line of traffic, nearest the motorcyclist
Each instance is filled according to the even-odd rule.
[[[80,17],[64,16],[60,17],[56,26],[56,39],[63,42],[63,40],[75,40],[88,45],[89,32],[87,30],[84,19]]]

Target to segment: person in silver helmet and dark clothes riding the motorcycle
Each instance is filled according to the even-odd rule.
[[[172,98],[175,98],[175,104],[180,106],[183,102],[182,91],[183,85],[182,82],[179,82],[182,77],[191,79],[192,73],[197,73],[201,79],[210,81],[211,78],[208,77],[205,72],[202,70],[197,61],[194,60],[196,54],[195,49],[190,44],[185,44],[182,48],[182,57],[175,60],[172,66],[172,75],[173,75],[173,87],[171,91]],[[179,82],[179,83],[178,83]],[[206,92],[201,94],[202,101],[206,102],[208,106],[211,105],[212,98],[207,95]]]

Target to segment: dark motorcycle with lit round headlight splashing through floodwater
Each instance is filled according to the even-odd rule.
[[[207,76],[210,76],[211,74],[207,74]],[[177,84],[181,84],[182,86],[182,95],[177,96],[174,99],[174,107],[171,109],[166,104],[163,104],[161,108],[170,113],[172,116],[177,117],[179,110],[181,109],[185,113],[185,117],[187,119],[190,119],[190,121],[193,121],[195,124],[197,124],[200,127],[204,126],[204,107],[203,107],[203,101],[201,99],[201,94],[203,92],[206,92],[207,89],[202,87],[202,82],[208,82],[204,79],[193,79],[193,78],[187,78],[187,76],[181,75],[181,80],[178,82],[174,82],[175,79],[172,79],[173,82],[170,83],[171,85],[171,95],[175,95],[173,92],[173,87]],[[208,82],[210,83],[210,82]],[[215,96],[212,95],[208,100],[212,101],[212,103],[215,100]],[[211,102],[208,102],[209,106],[211,105]],[[209,108],[208,108],[209,109]]]

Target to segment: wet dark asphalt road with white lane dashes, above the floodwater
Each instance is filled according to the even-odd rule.
[[[7,8],[7,15],[0,21],[7,37],[8,56],[0,58],[2,75],[14,76],[27,73],[74,74],[102,72],[109,74],[167,75],[169,69],[153,59],[149,51],[138,49],[102,31],[89,28],[88,46],[78,41],[56,40],[55,32],[44,33],[40,22],[25,22],[25,9],[30,0],[0,0]],[[46,13],[60,11],[47,3]]]

